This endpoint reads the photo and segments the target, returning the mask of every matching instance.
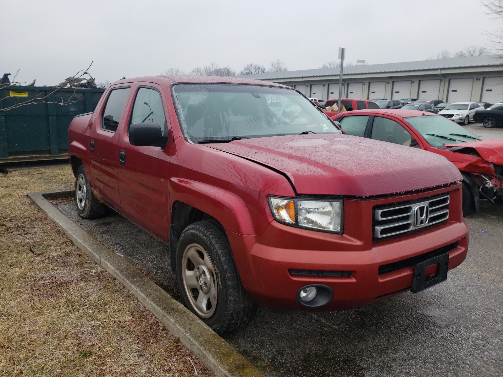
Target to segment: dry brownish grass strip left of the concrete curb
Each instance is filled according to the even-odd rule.
[[[26,196],[69,167],[0,175],[0,376],[212,375]]]

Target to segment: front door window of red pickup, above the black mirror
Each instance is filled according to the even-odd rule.
[[[157,123],[162,130],[162,134],[167,134],[162,99],[157,90],[146,87],[138,89],[129,125],[134,123]]]

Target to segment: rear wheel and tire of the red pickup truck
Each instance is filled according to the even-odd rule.
[[[78,215],[85,219],[103,217],[108,208],[95,197],[83,165],[79,166],[75,177],[75,205]]]

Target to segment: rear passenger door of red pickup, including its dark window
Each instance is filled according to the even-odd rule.
[[[123,127],[124,112],[130,93],[129,86],[114,87],[90,131],[91,174],[101,199],[114,209],[120,208],[117,167],[117,143]],[[127,123],[127,121],[126,121]]]

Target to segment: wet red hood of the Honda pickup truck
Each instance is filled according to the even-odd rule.
[[[443,156],[350,135],[288,135],[205,145],[283,172],[298,194],[366,197],[462,179]]]

